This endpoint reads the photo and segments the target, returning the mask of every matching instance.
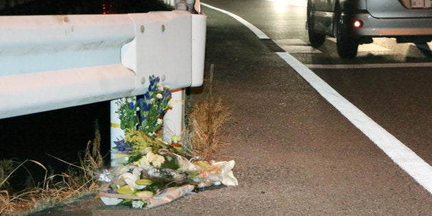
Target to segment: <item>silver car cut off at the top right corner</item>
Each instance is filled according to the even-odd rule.
[[[312,47],[336,38],[341,58],[355,58],[373,38],[424,44],[432,40],[432,0],[308,0],[306,28]]]

